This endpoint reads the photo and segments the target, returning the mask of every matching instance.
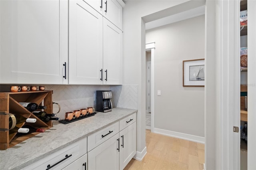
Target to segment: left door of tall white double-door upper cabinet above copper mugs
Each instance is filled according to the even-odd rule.
[[[83,0],[69,1],[69,84],[102,84],[102,16]]]

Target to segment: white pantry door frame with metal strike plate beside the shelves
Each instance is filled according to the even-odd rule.
[[[216,169],[240,169],[239,20],[239,0],[216,1]]]

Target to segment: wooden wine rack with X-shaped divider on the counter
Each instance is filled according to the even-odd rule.
[[[46,111],[46,113],[52,113],[52,93],[53,91],[50,90],[0,93],[0,150],[6,150],[7,148],[10,148],[38,134],[38,132],[22,136],[16,136],[17,133],[9,134],[8,113],[19,114],[26,118],[36,119],[36,123],[23,123],[20,125],[20,127],[22,127],[24,124],[30,125],[34,128],[49,129],[52,127],[52,121],[47,123],[43,122],[19,103],[31,102],[42,105],[42,101],[44,101],[44,106],[47,107],[47,109],[44,109],[44,111]]]

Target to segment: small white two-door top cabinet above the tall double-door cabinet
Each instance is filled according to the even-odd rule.
[[[124,6],[122,0],[85,0],[85,2],[122,30],[122,8]]]

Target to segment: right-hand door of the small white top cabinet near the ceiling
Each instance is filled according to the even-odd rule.
[[[103,0],[103,16],[122,30],[122,6],[116,0]]]

